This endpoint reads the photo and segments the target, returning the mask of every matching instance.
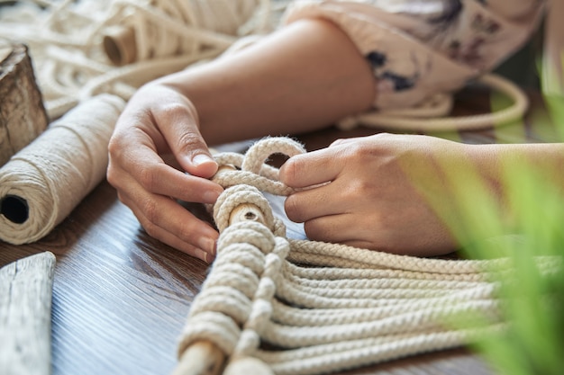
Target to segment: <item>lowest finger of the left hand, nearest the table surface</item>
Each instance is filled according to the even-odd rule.
[[[120,194],[120,200],[132,210],[151,237],[203,260],[196,248],[209,254],[207,259],[215,254],[217,231],[176,201],[154,195],[138,204],[140,200],[132,200],[124,194]]]

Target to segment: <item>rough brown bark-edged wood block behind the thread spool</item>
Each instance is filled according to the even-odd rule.
[[[0,39],[0,165],[48,124],[27,47]]]

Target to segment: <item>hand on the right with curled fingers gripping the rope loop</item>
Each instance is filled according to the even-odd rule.
[[[283,183],[289,219],[310,239],[396,254],[436,255],[456,243],[433,201],[450,206],[441,161],[464,160],[463,145],[440,138],[378,134],[339,139],[290,158]],[[439,208],[437,208],[439,209]]]

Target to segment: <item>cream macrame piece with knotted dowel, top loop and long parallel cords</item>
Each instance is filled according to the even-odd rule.
[[[266,138],[220,154],[217,257],[194,300],[175,375],[321,374],[468,344],[504,329],[496,275],[506,259],[442,260],[288,239],[262,192],[286,195],[268,156],[303,149]],[[541,272],[560,260],[537,258]],[[469,323],[479,315],[486,325]],[[460,324],[460,322],[465,322]],[[456,322],[456,323],[455,323]],[[206,353],[207,357],[202,356]],[[207,359],[207,360],[206,360]]]

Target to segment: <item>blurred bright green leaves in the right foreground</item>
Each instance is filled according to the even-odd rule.
[[[541,90],[549,115],[538,118],[550,120],[559,141],[564,141],[564,97],[548,93],[542,86]],[[503,209],[478,172],[450,176],[451,181],[458,181],[460,194],[467,194],[460,197],[467,205],[462,208],[468,213],[466,223],[463,228],[452,228],[466,245],[464,252],[474,259],[506,258],[513,270],[498,272],[492,280],[499,285],[497,297],[506,329],[492,331],[473,347],[498,374],[561,375],[564,196],[552,178],[560,171],[542,170],[539,165],[523,164],[523,160],[505,160],[504,165],[507,201]],[[487,325],[485,318],[482,324]]]

